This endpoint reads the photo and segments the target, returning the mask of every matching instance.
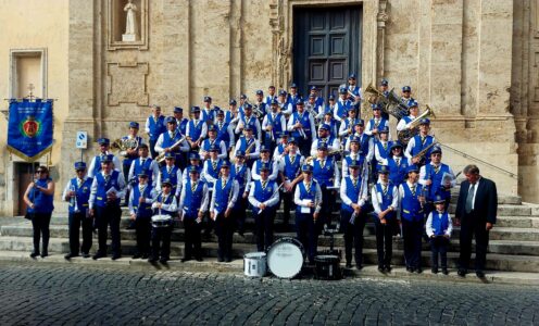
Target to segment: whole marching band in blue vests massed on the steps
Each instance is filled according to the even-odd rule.
[[[110,227],[112,259],[118,259],[124,201],[136,229],[134,259],[162,263],[170,259],[174,216],[185,227],[181,261],[201,261],[201,233],[214,228],[218,261],[229,262],[233,235],[245,231],[246,211],[251,209],[256,248],[264,251],[274,241],[275,215],[283,202],[285,226],[296,210],[297,237],[311,264],[324,225],[337,222],[344,237],[346,265],[352,267],[354,258],[361,269],[363,230],[372,218],[380,272],[391,271],[392,237],[402,233],[409,272],[422,272],[422,239],[428,236],[447,274],[452,229],[447,208],[455,177],[429,135],[428,114],[418,114],[408,86],[394,100],[387,80],[378,90],[362,91],[355,78],[351,74],[339,96],[329,96],[327,102],[316,87],[304,99],[292,84],[290,92],[276,93],[271,86],[264,97],[258,90],[253,102],[242,95],[239,103],[229,102],[228,110],[204,97],[202,108],[190,109],[190,118],[184,117],[181,108],[165,117],[159,105],[152,105],[145,125],[148,143],[138,135],[139,124],[131,122],[127,136],[112,143],[98,140],[100,152],[88,168],[85,162],[75,163],[76,176],[62,196],[70,202],[72,246],[65,258],[79,255],[82,223],[83,256],[89,258],[92,227],[99,237],[93,259],[106,255]],[[360,116],[365,99],[373,113],[366,122]],[[400,120],[400,140],[389,131],[388,113]],[[112,154],[115,149],[122,162]],[[338,196],[340,221],[333,221]],[[95,223],[88,222],[91,217]]]

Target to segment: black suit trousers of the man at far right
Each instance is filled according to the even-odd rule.
[[[459,267],[467,269],[472,255],[472,237],[475,235],[475,269],[484,271],[487,262],[487,247],[489,233],[486,229],[487,221],[479,220],[474,212],[461,218],[461,255]]]

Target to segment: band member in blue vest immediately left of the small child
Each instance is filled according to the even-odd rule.
[[[408,168],[408,180],[399,186],[401,200],[402,238],[404,240],[404,261],[409,273],[423,272],[421,264],[423,235],[423,187],[417,183],[419,170],[412,164]]]

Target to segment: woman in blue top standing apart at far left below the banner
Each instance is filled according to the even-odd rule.
[[[34,229],[34,251],[32,258],[41,253],[41,258],[49,255],[50,220],[54,205],[54,183],[49,176],[47,166],[39,166],[36,171],[37,179],[28,185],[24,193],[24,202],[32,215],[32,227]],[[43,237],[42,251],[39,251],[40,237]]]

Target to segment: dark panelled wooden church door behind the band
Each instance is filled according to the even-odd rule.
[[[294,11],[293,79],[300,93],[317,86],[325,99],[356,73],[361,83],[361,7]]]

